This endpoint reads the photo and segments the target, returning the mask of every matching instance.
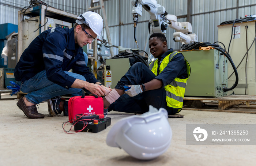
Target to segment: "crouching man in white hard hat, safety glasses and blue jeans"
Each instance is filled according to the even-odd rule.
[[[85,12],[77,17],[73,28],[56,27],[42,32],[22,53],[14,70],[22,96],[17,106],[29,118],[44,118],[36,105],[48,100],[50,116],[65,110],[65,99],[57,96],[82,94],[86,88],[92,94],[103,95],[112,90],[101,85],[86,66],[82,47],[91,44],[101,35],[103,20],[95,12]],[[72,69],[72,72],[68,72]],[[55,99],[53,99],[56,97]]]

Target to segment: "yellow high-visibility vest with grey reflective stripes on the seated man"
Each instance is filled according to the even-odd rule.
[[[179,52],[175,51],[175,52],[167,55],[162,60],[160,67],[159,67],[160,73],[163,71],[163,69],[167,66],[167,64],[172,60],[172,58],[177,53],[179,53]],[[188,73],[188,77],[189,77],[190,65],[186,59],[185,59],[185,61],[187,64],[187,73]],[[155,75],[157,75],[158,59],[152,61],[149,65],[149,68]],[[183,98],[184,98],[184,94],[185,94],[185,87],[186,87],[187,80],[188,80],[188,78],[185,78],[185,79],[175,78],[173,80],[173,82],[171,82],[170,84],[168,84],[164,87],[165,91],[166,91],[167,106],[179,109],[178,112],[180,112],[180,110],[182,109]]]

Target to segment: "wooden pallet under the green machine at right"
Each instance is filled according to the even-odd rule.
[[[217,98],[184,97],[187,110],[256,113],[256,95],[229,95]],[[188,104],[191,103],[191,104]]]

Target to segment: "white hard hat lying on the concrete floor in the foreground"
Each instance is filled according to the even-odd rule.
[[[167,121],[168,113],[153,106],[142,115],[134,115],[118,121],[109,131],[108,146],[123,148],[137,159],[149,160],[163,154],[170,146],[172,129]]]

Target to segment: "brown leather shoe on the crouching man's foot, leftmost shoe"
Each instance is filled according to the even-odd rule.
[[[24,97],[25,96],[22,96],[17,103],[17,106],[19,107],[19,109],[21,109],[28,118],[31,118],[31,119],[44,118],[45,115],[37,111],[36,105],[26,106],[23,99]]]

